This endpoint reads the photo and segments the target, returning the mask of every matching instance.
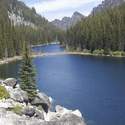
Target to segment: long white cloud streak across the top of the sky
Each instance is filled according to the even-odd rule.
[[[81,5],[93,1],[95,0],[49,0],[49,1],[41,1],[39,3],[34,4],[33,6],[36,8],[36,11],[38,13],[42,13],[42,12],[58,11],[68,8],[78,8]],[[96,1],[101,1],[101,0],[96,0]]]

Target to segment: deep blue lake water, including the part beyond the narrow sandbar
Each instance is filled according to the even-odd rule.
[[[59,45],[33,48],[60,52]],[[79,109],[88,125],[125,125],[125,58],[61,55],[37,57],[38,88],[54,104]],[[0,66],[0,77],[18,77],[20,61]]]

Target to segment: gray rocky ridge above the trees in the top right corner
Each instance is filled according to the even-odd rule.
[[[123,4],[125,0],[104,0],[101,4],[99,4],[97,7],[93,8],[92,13],[96,14],[102,10],[105,10],[107,8],[119,6]]]

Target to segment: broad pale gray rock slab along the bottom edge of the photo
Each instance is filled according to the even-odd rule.
[[[60,120],[44,121],[35,118],[25,118],[16,114],[7,114],[6,117],[0,118],[0,125],[86,125],[85,122],[72,114],[67,114]]]

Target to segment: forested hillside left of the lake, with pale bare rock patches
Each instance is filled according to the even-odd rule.
[[[23,41],[45,43],[56,36],[62,39],[62,34],[34,8],[17,0],[0,0],[0,58],[20,55]]]

